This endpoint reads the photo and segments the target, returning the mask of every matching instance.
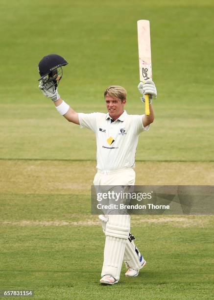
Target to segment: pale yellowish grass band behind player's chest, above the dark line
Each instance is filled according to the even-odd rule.
[[[94,133],[60,118],[52,103],[48,104],[2,107],[0,158],[95,160]],[[212,109],[203,105],[201,108],[182,105],[179,110],[176,105],[163,106],[163,110],[158,107],[155,123],[149,132],[140,135],[136,159],[214,161]],[[143,113],[141,103],[128,106],[129,113]],[[105,111],[104,103],[96,108],[86,104],[82,109]]]

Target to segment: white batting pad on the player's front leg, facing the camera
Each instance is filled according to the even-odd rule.
[[[104,261],[101,276],[119,280],[126,242],[130,232],[129,215],[108,215],[105,228]]]

